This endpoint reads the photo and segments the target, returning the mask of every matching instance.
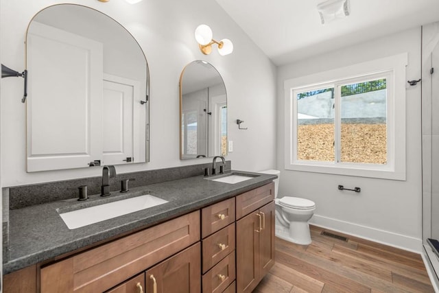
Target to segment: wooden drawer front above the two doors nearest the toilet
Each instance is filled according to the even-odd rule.
[[[237,220],[274,200],[274,183],[239,194],[236,197]]]

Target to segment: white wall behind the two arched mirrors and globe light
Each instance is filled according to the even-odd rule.
[[[39,10],[62,3],[56,0],[0,2],[1,63],[17,71],[25,66],[25,32]],[[73,0],[108,14],[139,41],[150,66],[151,115],[150,163],[117,166],[118,173],[207,163],[211,159],[180,161],[180,73],[193,60],[206,60],[217,68],[228,94],[228,138],[234,150],[226,159],[233,169],[259,170],[276,164],[276,68],[214,0],[144,0],[130,5],[122,0],[101,3]],[[193,32],[206,23],[215,39],[230,38],[235,51],[228,56],[204,56]],[[2,80],[1,88],[1,185],[15,186],[70,178],[99,176],[101,168],[25,171],[25,104],[23,80]],[[238,130],[236,119],[248,130]]]

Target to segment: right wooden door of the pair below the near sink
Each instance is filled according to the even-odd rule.
[[[201,292],[200,246],[200,242],[198,242],[147,270],[146,292]]]

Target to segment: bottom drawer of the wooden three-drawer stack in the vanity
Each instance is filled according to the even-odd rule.
[[[233,281],[235,281],[235,251],[203,275],[203,293],[223,292]]]

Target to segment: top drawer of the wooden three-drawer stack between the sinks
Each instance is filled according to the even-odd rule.
[[[205,238],[235,222],[235,198],[229,198],[201,210],[201,237]]]

